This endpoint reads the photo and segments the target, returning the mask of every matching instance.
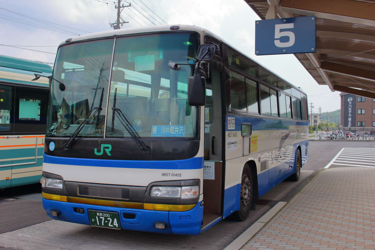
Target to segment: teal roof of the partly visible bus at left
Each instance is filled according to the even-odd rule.
[[[6,55],[0,55],[0,66],[52,74],[52,68],[48,64],[16,57],[8,57]]]

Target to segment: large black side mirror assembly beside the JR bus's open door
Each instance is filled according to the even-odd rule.
[[[187,82],[187,99],[190,106],[204,106],[206,102],[206,79],[199,73],[202,61],[209,61],[215,54],[215,46],[212,44],[199,45],[196,58],[199,60],[195,65],[194,75]],[[207,67],[207,66],[206,66]],[[208,67],[207,67],[208,69]]]

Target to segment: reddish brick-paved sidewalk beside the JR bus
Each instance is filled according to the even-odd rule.
[[[321,171],[241,249],[375,249],[375,168]]]

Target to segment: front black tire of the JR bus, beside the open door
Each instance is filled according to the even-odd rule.
[[[248,219],[254,198],[254,183],[249,166],[245,166],[242,171],[240,190],[240,210],[235,211],[231,218],[237,221]]]

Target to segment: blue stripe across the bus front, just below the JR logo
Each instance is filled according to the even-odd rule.
[[[44,163],[94,166],[111,168],[150,168],[150,169],[200,169],[203,168],[203,157],[193,157],[186,160],[102,160],[49,156],[44,154]]]

